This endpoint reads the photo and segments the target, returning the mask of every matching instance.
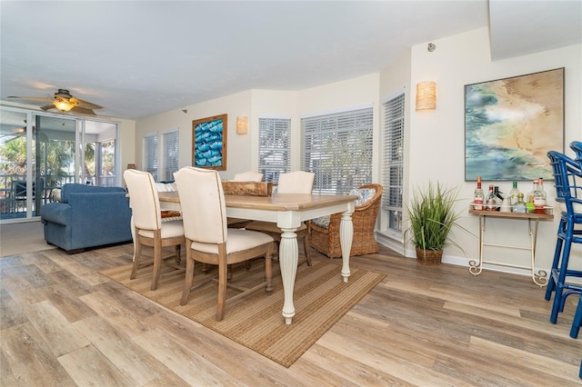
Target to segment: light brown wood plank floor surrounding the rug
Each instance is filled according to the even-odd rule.
[[[129,263],[131,253],[125,244],[0,259],[1,385],[582,382],[582,338],[568,336],[577,300],[570,297],[551,324],[545,290],[528,277],[473,277],[464,267],[424,267],[384,248],[354,257],[353,266],[386,273],[386,280],[286,369],[97,273]]]

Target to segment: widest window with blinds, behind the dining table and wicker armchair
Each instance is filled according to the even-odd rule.
[[[372,182],[372,107],[301,120],[302,164],[315,193],[349,193]]]

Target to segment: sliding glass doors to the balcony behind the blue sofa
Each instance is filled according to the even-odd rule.
[[[2,107],[0,222],[38,216],[67,183],[120,185],[117,124]]]

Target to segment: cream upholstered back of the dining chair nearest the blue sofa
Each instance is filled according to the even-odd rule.
[[[127,169],[124,179],[129,191],[129,205],[135,227],[159,230],[162,227],[162,215],[154,176],[148,172]]]

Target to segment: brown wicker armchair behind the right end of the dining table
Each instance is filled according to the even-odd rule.
[[[376,189],[376,194],[366,203],[356,205],[356,209],[352,213],[354,239],[352,241],[352,250],[349,253],[350,256],[378,252],[378,244],[374,237],[374,227],[376,225],[376,216],[380,209],[383,188],[381,184],[366,184],[359,188],[374,188]],[[329,258],[341,257],[342,249],[339,243],[339,223],[341,223],[341,219],[341,213],[332,214],[327,228],[309,222],[309,242],[311,247],[319,253],[326,254]]]

